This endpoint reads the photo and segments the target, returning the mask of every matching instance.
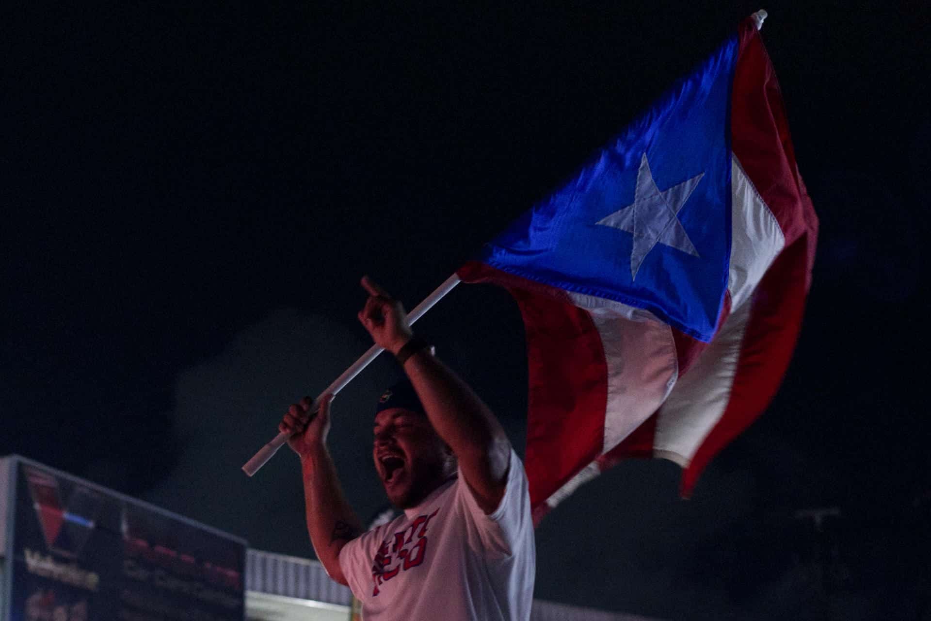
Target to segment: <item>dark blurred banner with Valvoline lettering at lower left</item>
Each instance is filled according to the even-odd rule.
[[[245,618],[244,540],[20,457],[4,461],[3,618]]]

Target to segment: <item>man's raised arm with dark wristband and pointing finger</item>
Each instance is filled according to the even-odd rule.
[[[475,391],[414,338],[397,300],[368,277],[362,278],[362,287],[370,297],[358,314],[359,321],[375,343],[396,357],[401,354],[427,418],[455,453],[459,472],[479,506],[492,513],[501,503],[507,480],[511,445],[504,428]]]

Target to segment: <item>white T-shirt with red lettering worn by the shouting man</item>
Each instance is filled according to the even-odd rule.
[[[491,515],[464,479],[451,479],[348,542],[340,567],[365,621],[529,619],[536,548],[517,453],[511,450],[505,496]]]

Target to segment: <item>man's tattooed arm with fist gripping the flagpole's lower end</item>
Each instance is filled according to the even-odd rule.
[[[362,533],[362,525],[346,502],[327,450],[330,401],[330,396],[324,398],[314,414],[310,412],[311,399],[301,399],[301,403],[290,406],[278,431],[292,434],[288,444],[301,457],[307,532],[317,559],[333,580],[344,585],[340,550]]]

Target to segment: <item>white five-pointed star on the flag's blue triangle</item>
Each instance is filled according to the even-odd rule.
[[[678,214],[704,175],[705,173],[701,172],[688,181],[660,192],[653,180],[646,154],[643,154],[640,170],[637,172],[634,202],[597,222],[633,235],[633,249],[630,251],[631,279],[637,277],[643,260],[657,243],[695,257],[699,256],[692,240],[682,228]]]

